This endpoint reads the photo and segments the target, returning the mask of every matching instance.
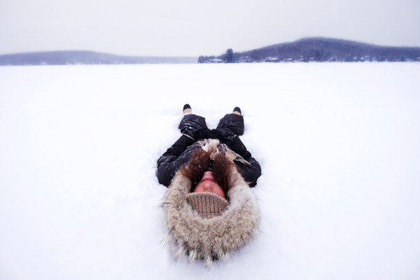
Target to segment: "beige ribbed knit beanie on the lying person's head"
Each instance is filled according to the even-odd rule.
[[[186,198],[202,218],[221,216],[229,205],[229,202],[223,197],[209,192],[189,193]]]

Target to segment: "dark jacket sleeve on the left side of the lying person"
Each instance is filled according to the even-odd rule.
[[[179,160],[183,151],[186,151],[188,146],[194,144],[195,140],[182,135],[158,160],[158,180],[164,186],[171,184],[172,178],[176,171],[181,167],[182,163]]]

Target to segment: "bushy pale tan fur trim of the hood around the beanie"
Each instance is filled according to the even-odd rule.
[[[201,142],[202,149],[212,158],[223,153],[230,160],[237,155],[218,140]],[[232,253],[253,241],[258,233],[260,211],[248,183],[230,165],[228,186],[229,206],[221,216],[202,218],[186,200],[192,182],[180,171],[176,172],[162,204],[165,209],[167,241],[178,260],[183,255],[191,261],[205,262],[211,267],[213,260],[227,260]]]

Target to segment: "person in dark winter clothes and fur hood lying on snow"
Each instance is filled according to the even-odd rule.
[[[260,214],[250,188],[261,167],[239,139],[244,134],[239,107],[215,130],[190,105],[183,113],[182,136],[158,160],[158,181],[169,187],[162,204],[167,237],[176,258],[186,254],[210,267],[255,238]]]

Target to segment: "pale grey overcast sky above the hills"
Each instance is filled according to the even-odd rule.
[[[307,36],[420,46],[420,0],[0,0],[0,54],[220,55]]]

